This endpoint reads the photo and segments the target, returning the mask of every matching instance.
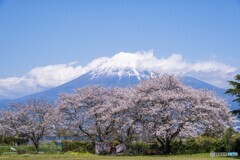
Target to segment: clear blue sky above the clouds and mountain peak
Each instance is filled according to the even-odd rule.
[[[0,0],[0,79],[149,50],[240,68],[240,1]]]

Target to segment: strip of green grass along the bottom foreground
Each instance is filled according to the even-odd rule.
[[[38,154],[2,155],[0,160],[230,160],[229,157],[210,157],[209,154],[170,156],[98,156],[91,154]]]

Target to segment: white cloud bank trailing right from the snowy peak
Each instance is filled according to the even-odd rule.
[[[189,72],[223,72],[233,73],[237,68],[217,62],[217,61],[200,61],[190,63],[183,59],[181,54],[172,54],[168,58],[157,59],[153,53],[143,54],[144,56],[139,63],[139,68],[146,68],[164,73],[186,74]]]

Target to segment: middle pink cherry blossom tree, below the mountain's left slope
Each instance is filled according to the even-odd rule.
[[[104,142],[113,137],[119,103],[115,91],[100,86],[76,89],[60,95],[59,115],[71,131],[80,130],[92,142]]]

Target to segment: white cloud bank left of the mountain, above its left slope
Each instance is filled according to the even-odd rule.
[[[68,82],[85,71],[75,63],[33,68],[25,76],[0,79],[0,98],[15,98]]]

